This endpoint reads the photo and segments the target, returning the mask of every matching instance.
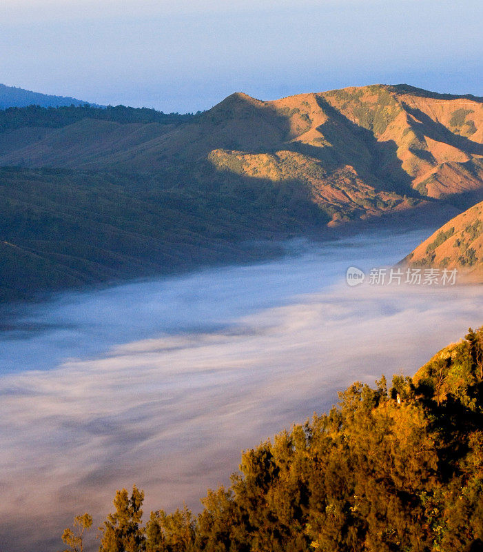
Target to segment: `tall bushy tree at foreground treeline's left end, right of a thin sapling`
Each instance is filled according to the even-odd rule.
[[[126,489],[116,492],[116,511],[110,513],[103,526],[99,527],[102,533],[99,552],[145,551],[145,529],[141,526],[143,500],[144,492],[139,491],[136,485],[131,496]]]

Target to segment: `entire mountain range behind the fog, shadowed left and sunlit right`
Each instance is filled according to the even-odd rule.
[[[0,296],[254,258],[247,244],[382,218],[434,228],[483,199],[482,103],[373,85],[236,93],[196,115],[0,111]]]

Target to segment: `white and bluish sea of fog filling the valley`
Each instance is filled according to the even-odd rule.
[[[198,509],[242,449],[483,324],[482,286],[345,282],[349,266],[391,266],[428,234],[290,242],[276,261],[4,313],[2,552],[59,549],[73,515],[97,526],[133,483],[146,511]]]

